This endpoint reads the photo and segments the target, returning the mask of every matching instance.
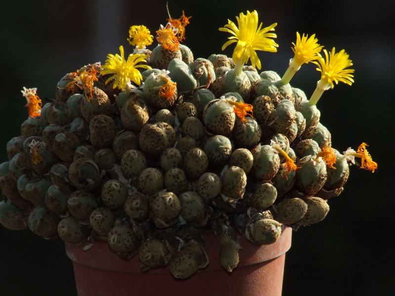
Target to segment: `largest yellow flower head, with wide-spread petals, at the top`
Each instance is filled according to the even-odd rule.
[[[275,31],[277,23],[269,27],[262,28],[262,23],[258,27],[258,12],[247,11],[247,15],[242,12],[237,19],[237,26],[234,22],[228,19],[228,24],[224,28],[219,28],[219,31],[228,32],[233,36],[229,37],[227,42],[222,46],[224,50],[228,45],[237,42],[235,50],[233,51],[232,58],[235,63],[239,62],[245,64],[248,59],[251,59],[253,67],[261,69],[261,61],[259,60],[255,50],[264,50],[276,52],[278,44],[270,38],[276,38],[276,34],[268,33]]]

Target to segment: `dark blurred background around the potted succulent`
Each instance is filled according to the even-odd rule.
[[[4,6],[5,5],[5,6]],[[378,162],[371,174],[357,167],[345,190],[330,200],[327,218],[293,233],[286,256],[283,295],[394,295],[394,9],[386,1],[179,1],[172,17],[192,15],[186,29],[195,57],[220,53],[229,34],[218,31],[239,12],[256,9],[264,26],[277,22],[278,53],[258,52],[263,70],[280,75],[293,56],[295,33],[316,33],[328,50],[345,48],[355,83],[326,91],[321,122],[340,151],[361,142]],[[0,9],[0,162],[5,144],[27,118],[23,86],[54,96],[56,82],[82,65],[125,52],[128,28],[145,24],[155,35],[167,18],[165,1],[7,1]],[[156,42],[155,42],[156,43]],[[153,48],[153,45],[150,46]],[[231,55],[233,46],[227,49]],[[305,65],[291,81],[308,97],[320,75]],[[0,295],[74,296],[72,262],[60,240],[0,227]]]

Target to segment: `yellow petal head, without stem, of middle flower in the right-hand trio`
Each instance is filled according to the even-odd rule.
[[[313,34],[308,38],[308,35],[303,33],[300,37],[299,32],[296,32],[296,43],[293,43],[292,51],[295,54],[293,60],[298,64],[306,64],[317,60],[319,56],[317,55],[321,49],[322,45],[318,44],[318,39],[316,34]]]

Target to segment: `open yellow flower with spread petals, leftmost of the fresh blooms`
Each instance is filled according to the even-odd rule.
[[[124,90],[126,87],[126,83],[130,79],[137,85],[140,85],[143,77],[141,76],[140,71],[137,68],[143,69],[151,69],[148,65],[137,65],[140,62],[147,62],[147,55],[145,54],[130,54],[125,61],[123,46],[119,46],[120,56],[118,54],[108,54],[106,63],[102,66],[102,71],[100,74],[114,74],[106,80],[106,84],[111,80],[114,81],[113,88],[118,87],[121,90]]]

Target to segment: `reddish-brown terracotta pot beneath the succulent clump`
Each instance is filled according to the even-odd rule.
[[[276,243],[261,247],[240,237],[240,262],[233,273],[219,264],[220,238],[204,234],[210,263],[187,280],[176,280],[168,268],[143,274],[138,256],[119,259],[105,242],[95,242],[88,251],[66,244],[66,252],[73,260],[79,296],[280,296],[291,233],[285,227]]]

